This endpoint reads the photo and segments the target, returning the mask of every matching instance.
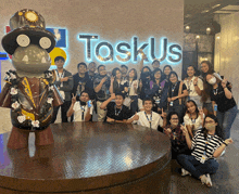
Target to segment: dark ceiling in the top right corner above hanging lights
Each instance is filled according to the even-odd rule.
[[[217,14],[231,14],[239,11],[239,0],[185,0],[184,25],[190,27],[190,33],[212,34],[221,31],[221,26],[214,21]]]

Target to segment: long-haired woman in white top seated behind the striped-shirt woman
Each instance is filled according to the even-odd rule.
[[[187,101],[186,107],[187,108],[184,116],[184,122],[190,137],[193,138],[196,132],[202,128],[205,116],[203,114],[202,107],[201,109],[198,109],[196,102],[192,100]]]

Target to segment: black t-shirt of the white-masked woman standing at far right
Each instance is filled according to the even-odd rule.
[[[231,89],[227,86],[227,89],[231,92]],[[222,113],[227,112],[236,105],[234,98],[227,99],[225,95],[224,88],[218,83],[217,89],[213,89],[210,93],[211,101],[215,101],[217,104],[217,109]]]

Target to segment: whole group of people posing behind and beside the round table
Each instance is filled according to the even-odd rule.
[[[143,66],[144,57],[139,73],[126,65],[108,73],[104,65],[81,62],[75,75],[63,68],[63,57],[55,57],[54,83],[64,99],[62,122],[90,121],[96,112],[98,121],[159,130],[171,139],[172,158],[180,164],[181,176],[191,174],[212,186],[210,173],[218,169],[215,158],[232,143],[230,128],[238,112],[232,85],[209,61],[201,62],[198,76],[189,65],[186,78],[179,80],[172,66],[162,70],[158,60],[152,69]],[[59,107],[54,107],[52,122]]]

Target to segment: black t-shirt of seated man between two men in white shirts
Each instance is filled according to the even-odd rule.
[[[115,120],[124,120],[131,117],[131,112],[128,109],[127,106],[123,105],[122,109],[116,108],[115,102],[110,102],[106,106],[106,109],[108,109],[106,117],[113,118]]]

